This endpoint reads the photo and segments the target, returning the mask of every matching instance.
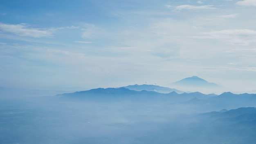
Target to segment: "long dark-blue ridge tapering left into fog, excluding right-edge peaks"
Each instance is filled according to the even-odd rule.
[[[97,88],[87,91],[74,92],[58,94],[56,98],[64,98],[68,100],[104,100],[104,101],[116,101],[116,100],[131,100],[131,101],[162,101],[165,103],[183,103],[193,98],[198,98],[199,100],[208,99],[211,97],[216,97],[212,94],[202,94],[200,92],[193,93],[182,93],[170,92],[168,94],[152,92],[152,91],[135,91],[124,87],[119,88]],[[191,102],[193,103],[193,101]]]

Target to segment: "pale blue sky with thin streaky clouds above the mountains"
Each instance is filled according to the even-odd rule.
[[[4,0],[0,87],[256,90],[256,0]]]

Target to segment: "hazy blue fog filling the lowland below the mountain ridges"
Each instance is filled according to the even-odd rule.
[[[211,112],[241,106],[204,103],[217,96],[6,97],[0,101],[1,144],[249,144],[256,140],[255,113]]]

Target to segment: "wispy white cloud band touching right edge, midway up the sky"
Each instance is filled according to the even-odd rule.
[[[248,45],[256,43],[256,31],[251,29],[226,29],[221,31],[211,31],[202,33],[205,36],[194,38],[218,39],[235,45]]]

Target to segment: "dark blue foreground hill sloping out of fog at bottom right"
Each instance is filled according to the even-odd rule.
[[[151,133],[148,142],[173,144],[254,144],[256,108],[241,107],[226,112],[212,111],[180,116],[176,125],[168,123]],[[146,137],[145,137],[146,138]],[[151,141],[150,141],[151,140]]]

